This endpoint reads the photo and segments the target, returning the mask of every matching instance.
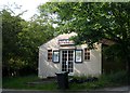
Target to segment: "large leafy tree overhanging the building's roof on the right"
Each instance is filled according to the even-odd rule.
[[[77,44],[87,42],[93,48],[103,39],[114,41],[110,50],[127,64],[130,76],[130,2],[49,2],[40,9],[57,15],[61,31],[76,31]]]

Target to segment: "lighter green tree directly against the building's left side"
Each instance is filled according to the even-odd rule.
[[[38,46],[54,37],[54,28],[38,15],[29,22],[23,22],[23,31],[18,34],[23,58],[27,61],[27,68],[38,70]],[[31,70],[30,70],[31,71]]]

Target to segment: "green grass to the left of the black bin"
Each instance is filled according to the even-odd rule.
[[[56,90],[57,88],[56,82],[54,81],[46,84],[27,83],[36,80],[39,80],[37,76],[3,78],[2,87],[3,89],[26,89],[26,90]]]

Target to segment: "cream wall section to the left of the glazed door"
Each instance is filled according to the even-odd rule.
[[[53,77],[55,76],[55,72],[60,70],[60,64],[48,62],[48,50],[52,49],[53,51],[57,48],[58,45],[56,44],[55,39],[39,48],[38,76],[40,78]]]

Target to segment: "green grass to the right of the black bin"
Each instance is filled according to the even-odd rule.
[[[75,77],[77,79],[86,79],[88,77]],[[94,89],[102,89],[107,87],[119,87],[126,85],[128,82],[127,72],[125,70],[109,74],[109,75],[102,75],[99,77],[98,81],[94,82],[86,82],[86,83],[72,83],[70,90],[94,90]]]

